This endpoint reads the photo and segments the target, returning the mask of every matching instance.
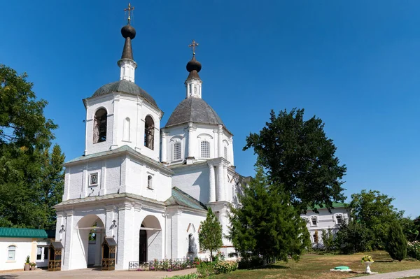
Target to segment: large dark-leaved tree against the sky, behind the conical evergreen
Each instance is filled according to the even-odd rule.
[[[320,118],[303,120],[304,110],[271,111],[269,122],[259,134],[249,134],[244,150],[253,148],[258,164],[267,170],[269,180],[290,193],[293,206],[307,208],[344,201],[342,178],[346,166],[339,164],[337,149],[323,131]]]

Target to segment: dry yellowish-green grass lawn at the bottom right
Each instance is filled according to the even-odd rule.
[[[260,278],[349,278],[363,276],[362,274],[347,272],[331,272],[335,266],[349,266],[353,271],[364,271],[365,265],[361,259],[363,255],[370,255],[374,264],[370,269],[374,272],[386,273],[403,271],[407,269],[420,269],[420,262],[415,260],[404,260],[393,262],[387,252],[375,251],[355,255],[303,255],[299,262],[277,262],[265,269],[238,270],[228,274],[210,276],[214,279],[260,279]]]

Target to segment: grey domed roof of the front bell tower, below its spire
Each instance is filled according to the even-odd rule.
[[[152,96],[148,94],[148,92],[141,89],[139,85],[132,83],[128,80],[118,80],[114,83],[108,83],[106,85],[103,85],[102,87],[99,87],[97,91],[94,92],[92,97],[103,96],[111,92],[123,92],[127,94],[139,95],[141,96],[141,98],[148,101],[148,103],[151,103],[156,108],[159,108],[155,99],[153,99]]]

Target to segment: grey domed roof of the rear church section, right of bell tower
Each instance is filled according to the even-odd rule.
[[[221,117],[206,101],[193,97],[181,101],[176,106],[165,127],[188,122],[223,125]]]

